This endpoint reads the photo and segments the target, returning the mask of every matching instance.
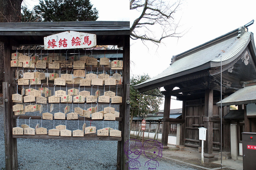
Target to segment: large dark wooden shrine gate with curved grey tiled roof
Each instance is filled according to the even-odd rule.
[[[244,82],[256,79],[256,49],[253,33],[248,32],[247,28],[252,23],[253,21],[214,40],[174,55],[166,70],[134,86],[140,92],[164,87],[163,130],[168,129],[168,122],[177,122],[169,118],[170,97],[176,96],[178,100],[183,101],[184,123],[180,121],[180,145],[200,147],[198,128],[205,127],[206,162],[216,160],[213,150],[220,151],[221,119],[224,134],[222,151],[230,157],[230,121],[223,119],[223,116],[228,114],[229,107],[223,107],[221,115],[220,107],[216,105],[221,100],[221,92],[224,99],[241,89]],[[174,87],[179,89],[173,90]],[[168,148],[167,137],[168,134],[163,133],[164,148]]]

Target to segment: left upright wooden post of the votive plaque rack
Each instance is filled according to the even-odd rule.
[[[5,143],[5,169],[18,169],[17,139],[12,138],[12,128],[16,127],[16,119],[12,118],[12,70],[11,63],[11,43],[4,43],[4,143]]]

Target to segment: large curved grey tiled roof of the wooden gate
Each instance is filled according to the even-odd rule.
[[[234,30],[233,32],[209,41],[197,48],[193,48],[191,51],[188,50],[177,55],[176,61],[163,72],[134,87],[140,90],[140,88],[161,83],[172,78],[177,78],[200,70],[218,67],[220,66],[219,54],[221,54],[222,65],[230,63],[244,51],[248,43],[251,41],[251,32],[245,32],[239,39],[236,38],[237,32],[237,30]]]

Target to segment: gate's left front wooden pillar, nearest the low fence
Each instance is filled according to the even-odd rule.
[[[171,104],[171,96],[165,95],[164,98],[164,110],[163,110],[163,117],[169,118],[170,117],[170,104]],[[163,122],[163,128],[162,128],[162,144],[163,149],[168,149],[168,135],[169,135],[169,122],[164,121]]]

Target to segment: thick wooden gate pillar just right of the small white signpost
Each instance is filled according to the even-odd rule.
[[[213,116],[213,90],[207,89],[205,91],[205,109],[204,116],[212,117]],[[205,153],[204,157],[207,158],[207,162],[211,162],[211,158],[214,157],[212,154],[212,134],[213,134],[213,122],[204,122],[204,127],[207,129],[206,132],[206,141],[205,141]]]

